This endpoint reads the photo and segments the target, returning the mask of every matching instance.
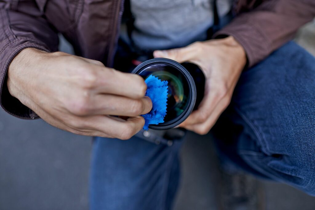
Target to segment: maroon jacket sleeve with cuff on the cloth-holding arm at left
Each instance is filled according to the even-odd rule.
[[[38,116],[7,88],[10,62],[24,48],[57,51],[58,35],[45,20],[35,0],[0,1],[0,105],[10,114],[35,119]]]

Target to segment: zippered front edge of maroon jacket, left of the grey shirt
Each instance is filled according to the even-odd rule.
[[[115,0],[113,0],[114,2]],[[117,0],[117,5],[118,9],[116,8],[116,15],[114,19],[114,33],[111,38],[111,42],[109,43],[109,50],[108,50],[108,57],[107,57],[107,66],[112,67],[113,62],[114,62],[114,54],[117,50],[117,42],[118,42],[118,37],[119,37],[119,30],[120,30],[120,24],[121,24],[121,19],[123,16],[123,4],[124,0]]]

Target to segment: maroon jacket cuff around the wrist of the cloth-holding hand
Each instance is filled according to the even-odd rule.
[[[21,37],[16,38],[0,51],[0,105],[13,116],[23,119],[37,119],[39,116],[30,108],[23,105],[19,99],[13,97],[9,93],[7,86],[9,65],[14,57],[25,48],[37,48],[49,52],[47,48]]]

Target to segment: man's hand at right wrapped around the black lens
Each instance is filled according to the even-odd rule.
[[[184,48],[155,51],[154,57],[188,61],[198,65],[205,77],[205,95],[198,110],[180,127],[206,134],[230,104],[233,90],[246,65],[243,47],[233,37],[196,42]]]

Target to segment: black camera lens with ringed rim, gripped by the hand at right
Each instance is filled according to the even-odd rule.
[[[150,125],[155,130],[174,128],[198,108],[204,94],[205,77],[192,63],[178,63],[166,58],[154,58],[138,65],[131,73],[144,79],[154,75],[168,81],[168,105],[164,122]]]

